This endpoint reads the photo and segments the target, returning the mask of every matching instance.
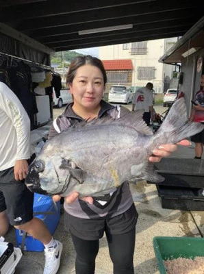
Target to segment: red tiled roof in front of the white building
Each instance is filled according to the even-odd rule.
[[[103,60],[105,71],[132,70],[133,65],[130,59],[125,60]]]

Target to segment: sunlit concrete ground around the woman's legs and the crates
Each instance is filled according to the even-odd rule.
[[[179,147],[171,157],[193,158],[194,146]],[[198,160],[201,161],[201,160]],[[204,214],[202,211],[182,211],[162,208],[155,184],[138,182],[131,184],[139,218],[136,226],[136,249],[134,253],[134,269],[137,274],[159,274],[157,260],[153,250],[154,236],[203,237]],[[64,249],[58,274],[75,273],[75,251],[71,236],[64,230],[63,208],[60,223],[54,238],[60,240]],[[14,229],[5,237],[5,241],[15,245]],[[44,266],[43,252],[25,251],[16,266],[16,274],[42,274]],[[100,250],[96,261],[96,274],[112,274],[112,262],[108,253],[105,236],[100,241]],[[88,274],[88,273],[87,273]]]

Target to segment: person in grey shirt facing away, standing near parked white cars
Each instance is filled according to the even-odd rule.
[[[132,111],[143,110],[143,120],[146,125],[150,124],[150,120],[154,120],[153,115],[153,84],[147,83],[143,88],[139,88],[133,94]]]

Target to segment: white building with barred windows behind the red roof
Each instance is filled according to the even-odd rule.
[[[120,77],[121,82],[118,82],[118,77],[116,77],[116,74],[120,71],[119,67],[112,68],[111,73],[108,71],[110,69],[107,69],[108,84],[128,84],[136,89],[145,86],[147,82],[152,82],[155,92],[162,93],[166,91],[170,86],[170,79],[173,78],[173,72],[177,71],[177,67],[160,63],[158,60],[170,47],[175,45],[177,40],[178,38],[175,37],[99,47],[99,58],[102,61],[121,60],[123,62],[123,60],[131,60],[133,67],[131,77],[129,77],[130,73],[127,73],[126,81],[125,71],[123,70],[123,75]],[[170,87],[172,88],[172,86]]]

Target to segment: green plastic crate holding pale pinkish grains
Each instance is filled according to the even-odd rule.
[[[160,274],[166,274],[164,260],[204,256],[204,238],[154,237],[153,247]]]

